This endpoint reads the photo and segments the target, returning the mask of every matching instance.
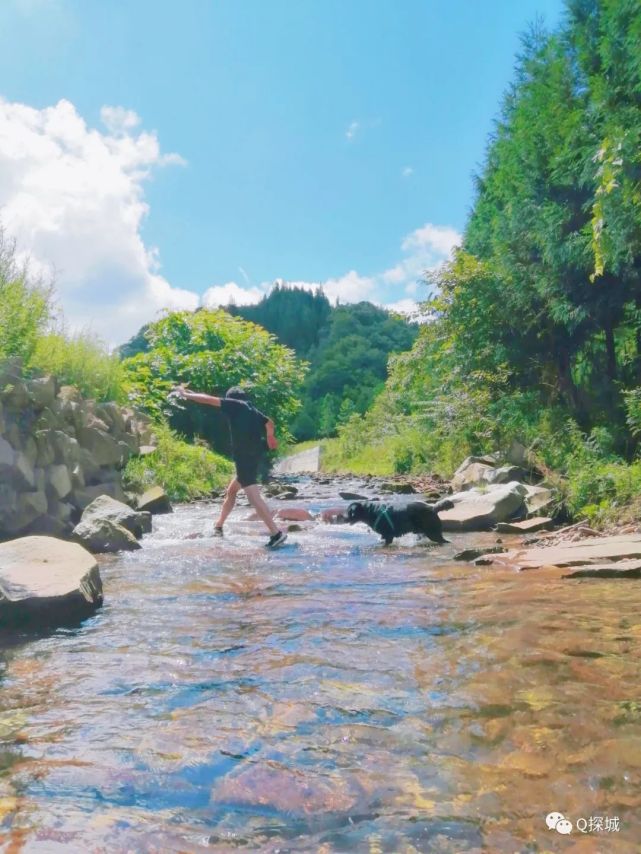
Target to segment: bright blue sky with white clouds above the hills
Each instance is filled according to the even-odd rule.
[[[55,269],[70,321],[108,340],[276,279],[404,303],[465,224],[519,33],[561,14],[3,0],[0,217]]]

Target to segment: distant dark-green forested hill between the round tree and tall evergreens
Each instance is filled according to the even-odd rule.
[[[332,307],[319,289],[276,285],[260,303],[227,311],[263,326],[309,362],[303,406],[291,425],[300,440],[331,436],[364,413],[387,377],[392,353],[408,350],[415,324],[369,302]]]

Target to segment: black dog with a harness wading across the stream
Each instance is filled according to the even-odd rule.
[[[454,504],[449,498],[444,498],[436,504],[410,501],[402,507],[379,504],[377,501],[354,501],[343,518],[350,525],[365,522],[381,535],[386,546],[389,546],[394,537],[402,537],[403,534],[424,534],[435,543],[449,543],[443,536],[438,512],[450,510],[452,507]]]

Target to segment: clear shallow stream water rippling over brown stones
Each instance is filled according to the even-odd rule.
[[[2,652],[2,851],[641,850],[638,581],[452,561],[492,535],[270,553],[212,513],[156,517],[100,612]]]

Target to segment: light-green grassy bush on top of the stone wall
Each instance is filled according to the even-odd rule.
[[[122,401],[120,360],[89,332],[51,332],[37,339],[30,365],[75,385],[84,397]]]

